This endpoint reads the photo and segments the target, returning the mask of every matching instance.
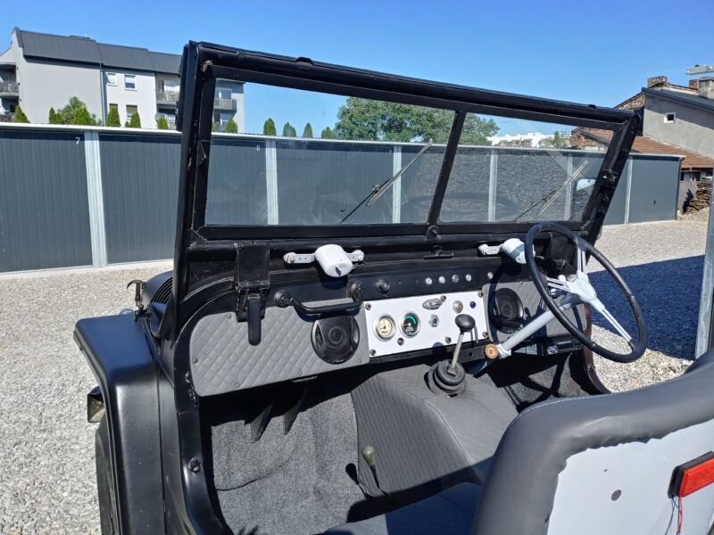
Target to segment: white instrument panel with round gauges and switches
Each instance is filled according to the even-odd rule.
[[[369,357],[454,345],[459,314],[476,321],[464,342],[488,338],[484,294],[477,290],[366,301],[364,314]]]

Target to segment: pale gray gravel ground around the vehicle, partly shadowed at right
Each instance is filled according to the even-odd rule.
[[[611,389],[668,379],[689,364],[705,233],[702,214],[604,230],[598,247],[621,268],[651,328],[651,349],[635,364],[598,358]],[[0,532],[99,532],[95,426],[87,424],[85,401],[95,379],[72,340],[73,325],[131,308],[127,282],[168,268],[0,276]],[[593,280],[607,290],[602,273]],[[617,303],[610,309],[617,314]],[[606,325],[594,330],[599,341],[612,341]]]

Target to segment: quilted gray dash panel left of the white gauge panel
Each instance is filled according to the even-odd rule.
[[[312,306],[345,300],[310,303]],[[238,323],[233,312],[202,317],[191,333],[189,351],[191,376],[199,396],[214,396],[262,384],[322,374],[369,362],[364,313],[356,315],[360,343],[353,358],[342,364],[328,364],[312,349],[313,318],[297,315],[295,309],[271,307],[262,320],[262,340],[248,343],[248,324]]]

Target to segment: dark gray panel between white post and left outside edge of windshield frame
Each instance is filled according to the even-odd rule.
[[[179,198],[177,136],[99,136],[107,259],[173,258]]]

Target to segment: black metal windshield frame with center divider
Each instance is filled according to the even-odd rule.
[[[185,271],[183,268],[187,256],[200,251],[229,249],[238,241],[262,240],[278,245],[290,241],[324,242],[326,238],[353,242],[374,238],[377,241],[380,237],[411,243],[415,239],[451,241],[464,235],[525,235],[532,223],[444,223],[438,219],[458,149],[461,128],[469,112],[613,131],[583,218],[579,222],[565,223],[594,243],[602,228],[632,142],[641,128],[640,117],[633,111],[442,84],[313,62],[306,58],[257,53],[208,43],[190,42],[185,47],[181,72],[177,126],[183,135],[175,250],[175,268],[179,271]],[[452,131],[444,151],[444,161],[436,182],[428,221],[424,224],[388,223],[359,226],[205,225],[212,108],[214,87],[218,78],[454,111]],[[176,296],[180,299],[187,289],[187,274],[177,275],[182,281],[179,286],[184,290]]]

